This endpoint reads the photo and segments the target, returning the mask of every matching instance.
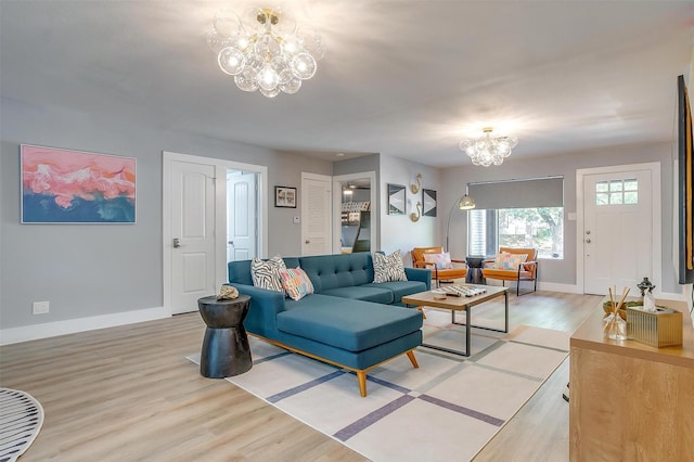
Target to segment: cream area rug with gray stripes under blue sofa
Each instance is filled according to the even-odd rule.
[[[464,348],[450,313],[425,311],[426,343]],[[372,370],[365,398],[350,371],[253,337],[253,369],[227,380],[373,461],[471,460],[562,363],[569,342],[525,325],[473,332],[471,357],[420,347],[420,369],[400,357]]]

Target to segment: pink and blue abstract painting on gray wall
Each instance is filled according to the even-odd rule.
[[[134,158],[22,145],[23,223],[134,221]]]

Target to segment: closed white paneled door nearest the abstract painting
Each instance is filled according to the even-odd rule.
[[[215,166],[171,164],[171,313],[197,310],[214,295]]]

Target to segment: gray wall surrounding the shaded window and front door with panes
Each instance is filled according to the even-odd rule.
[[[450,208],[454,201],[465,193],[468,182],[507,180],[564,176],[564,259],[542,260],[540,280],[560,284],[576,284],[576,220],[568,220],[569,213],[577,211],[576,205],[576,170],[581,168],[605,167],[613,165],[660,163],[661,185],[661,235],[663,235],[663,292],[681,293],[672,264],[673,252],[673,194],[677,192],[673,181],[673,159],[676,150],[671,143],[632,145],[615,147],[607,151],[577,152],[556,157],[535,158],[528,161],[510,159],[499,167],[458,167],[442,171],[441,202]],[[455,256],[464,256],[467,242],[465,214],[458,213],[451,219],[450,247]],[[445,224],[444,224],[445,227]],[[441,231],[445,241],[446,230]]]

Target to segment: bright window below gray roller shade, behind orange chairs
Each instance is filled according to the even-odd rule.
[[[538,258],[564,258],[564,207],[468,210],[471,255],[494,255],[499,247],[534,247]]]

